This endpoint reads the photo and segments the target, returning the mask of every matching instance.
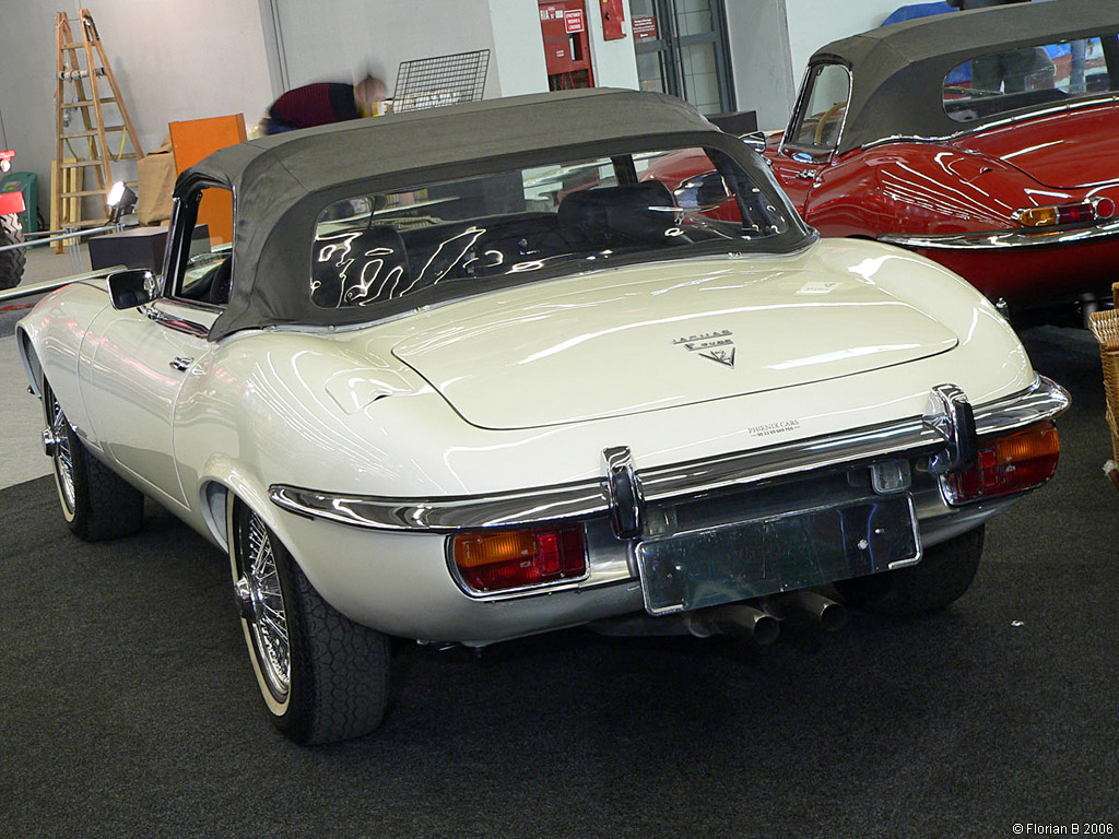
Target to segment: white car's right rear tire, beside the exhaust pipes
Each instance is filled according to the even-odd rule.
[[[959,600],[975,579],[982,556],[985,526],[927,548],[910,568],[836,583],[853,606],[882,614],[910,615],[943,609]]]

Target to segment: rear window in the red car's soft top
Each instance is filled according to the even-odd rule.
[[[1115,35],[988,53],[944,78],[944,112],[957,122],[1119,91]]]

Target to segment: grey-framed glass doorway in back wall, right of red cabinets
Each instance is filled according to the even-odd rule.
[[[704,114],[734,110],[723,0],[630,0],[630,13],[642,91]]]

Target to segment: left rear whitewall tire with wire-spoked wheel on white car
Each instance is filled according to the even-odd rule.
[[[234,587],[272,723],[303,745],[374,730],[388,704],[388,637],[335,610],[263,519],[233,503]]]

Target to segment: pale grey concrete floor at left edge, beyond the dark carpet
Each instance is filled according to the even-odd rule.
[[[83,253],[83,270],[90,257]],[[50,247],[28,251],[22,284],[57,280],[74,273],[68,254]],[[0,305],[0,489],[50,472],[50,461],[43,453],[43,409],[27,393],[27,375],[16,348],[16,322],[34,301]]]

